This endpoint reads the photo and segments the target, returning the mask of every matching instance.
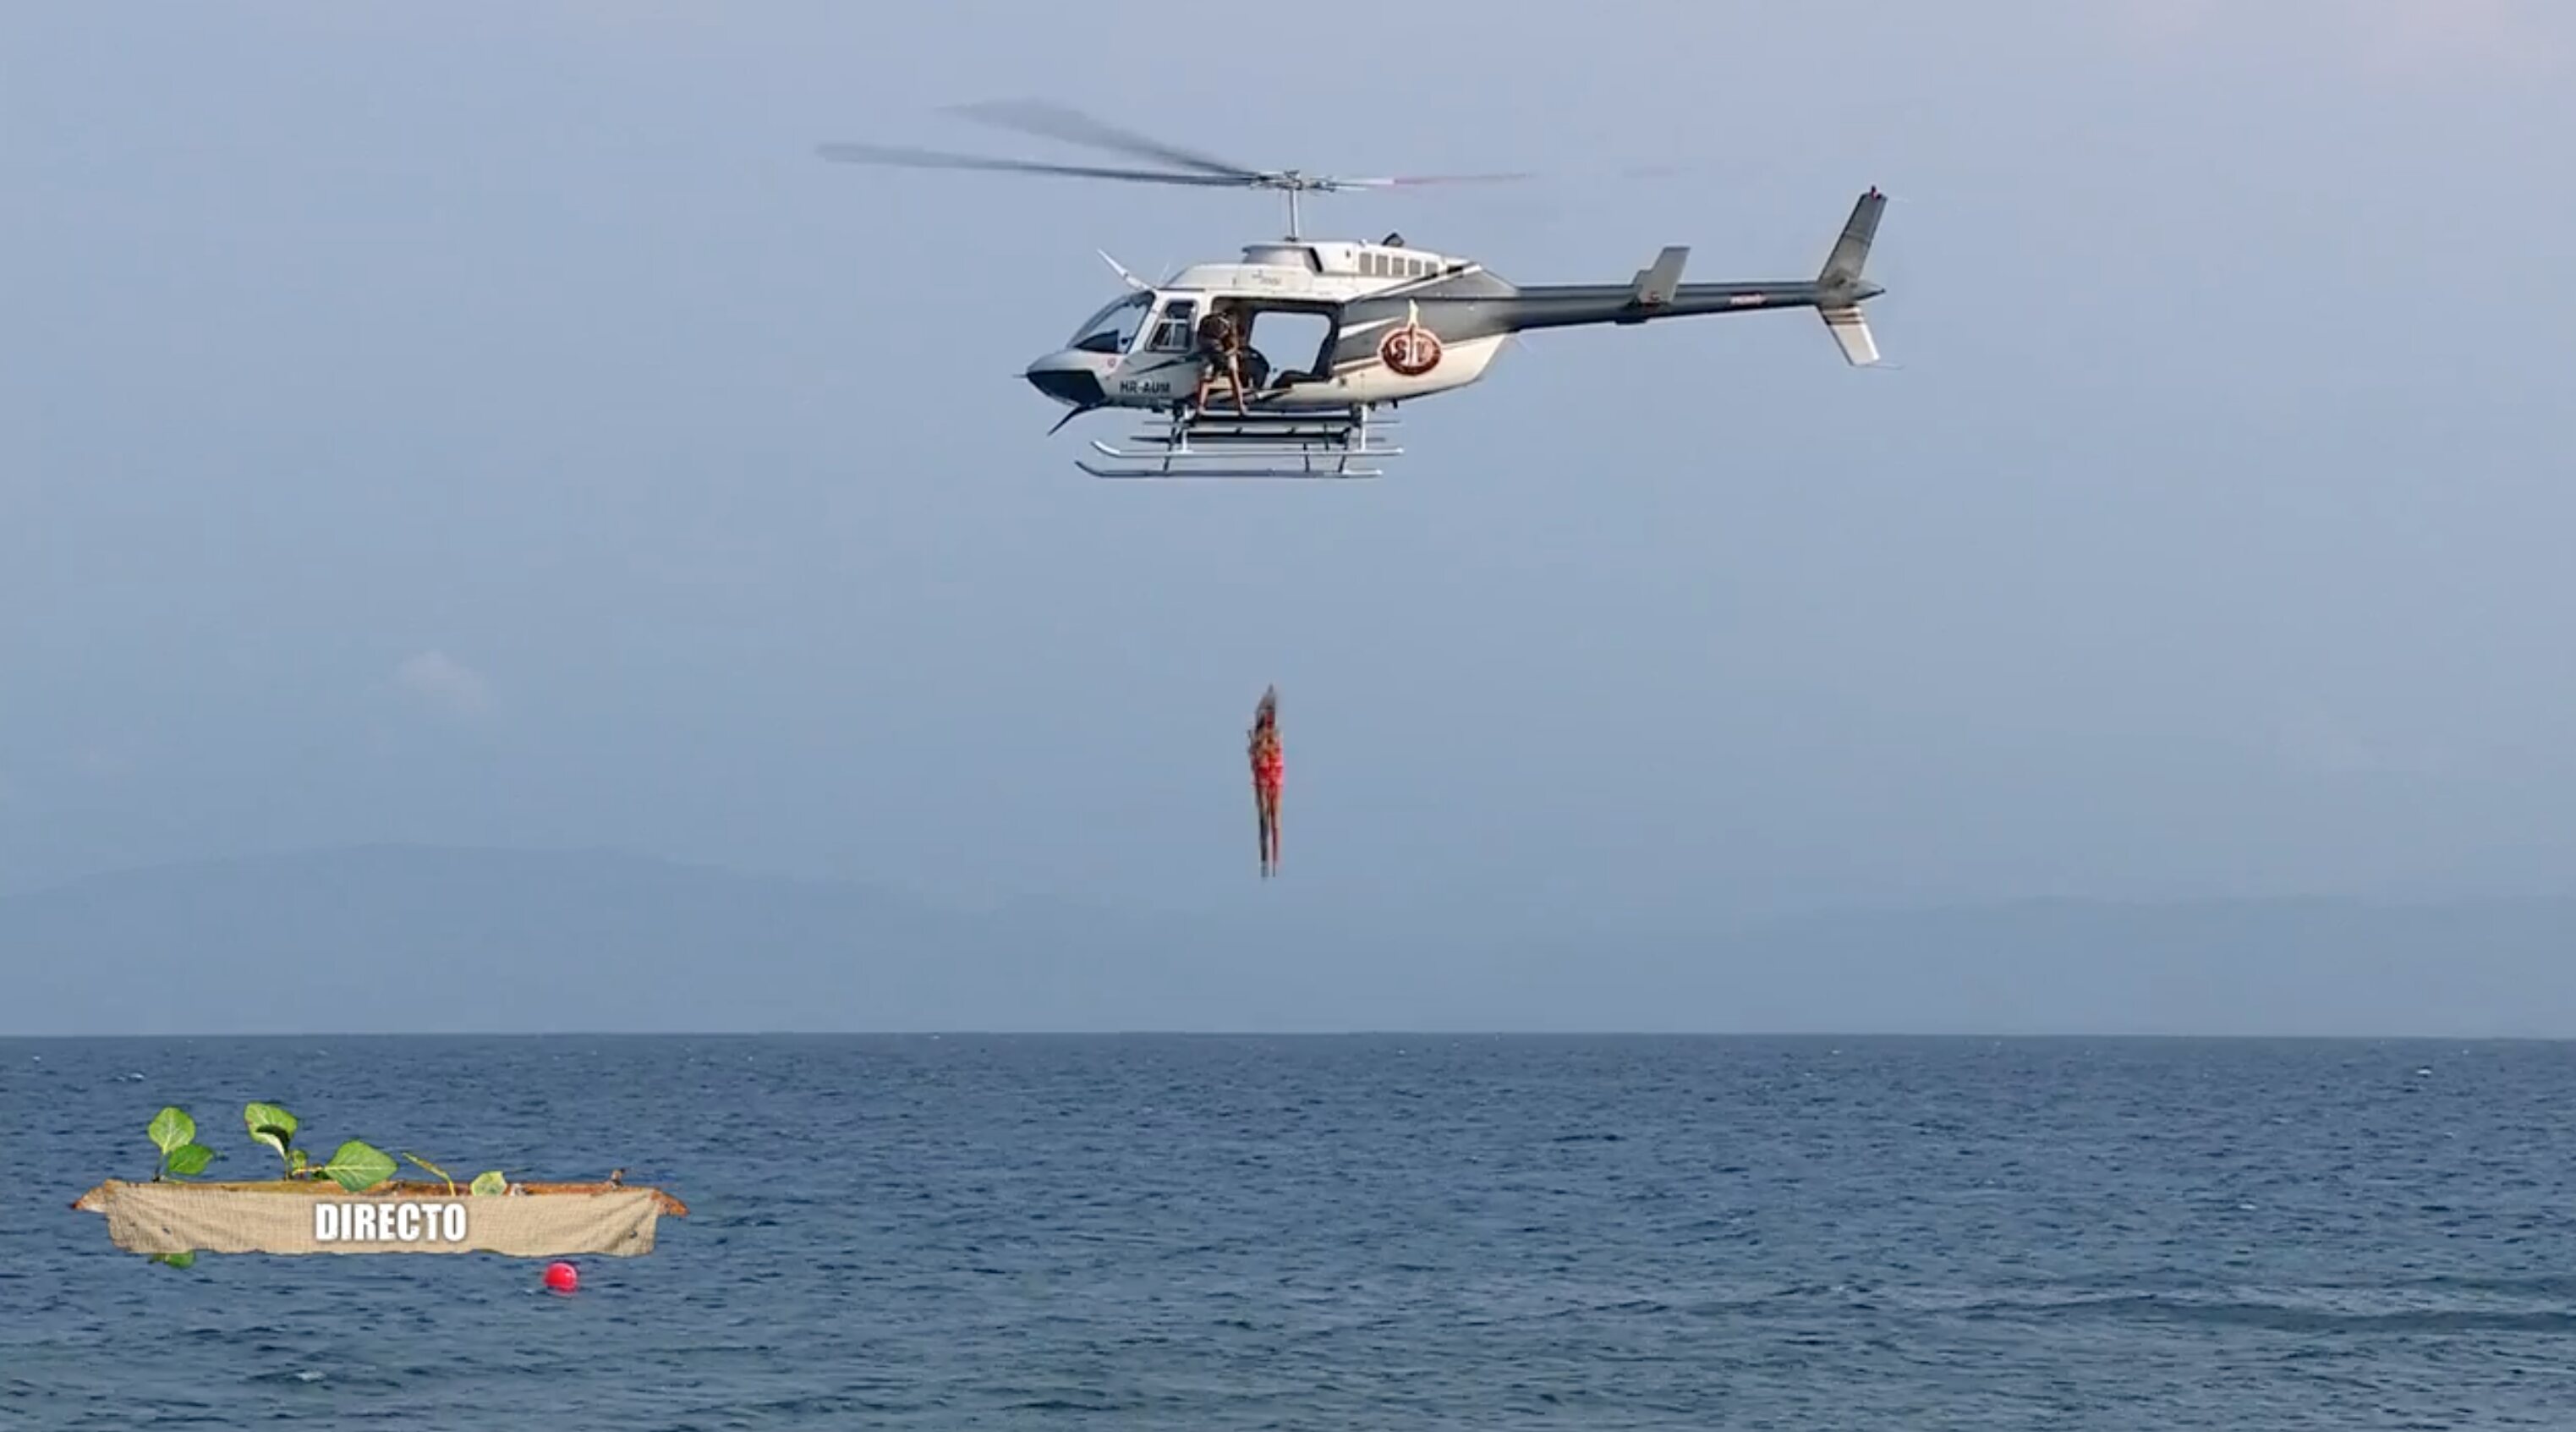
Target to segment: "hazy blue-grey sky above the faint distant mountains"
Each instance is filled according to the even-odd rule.
[[[0,886],[343,840],[1175,907],[2568,886],[2576,8],[1257,13],[10,5]],[[1806,276],[1878,183],[1891,371],[1538,335],[1388,482],[1095,484],[1015,376],[1092,250],[1280,214],[811,157],[1059,157],[935,113],[1007,95],[1561,173],[1309,219],[1525,281]]]

